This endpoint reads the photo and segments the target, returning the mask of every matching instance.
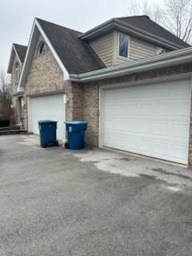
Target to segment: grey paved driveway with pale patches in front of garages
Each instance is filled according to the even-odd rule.
[[[1,136],[0,255],[191,256],[192,170]]]

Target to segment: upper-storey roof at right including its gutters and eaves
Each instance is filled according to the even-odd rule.
[[[156,45],[166,47],[170,50],[178,50],[190,46],[181,38],[176,37],[174,34],[170,33],[170,31],[152,21],[146,15],[111,18],[95,26],[93,29],[80,34],[79,38],[90,40],[114,29],[122,30],[124,33],[142,38],[145,41],[153,42]]]

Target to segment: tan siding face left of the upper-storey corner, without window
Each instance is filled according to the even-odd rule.
[[[106,34],[102,37],[96,38],[90,42],[90,46],[94,49],[98,57],[106,66],[113,65],[113,33]]]

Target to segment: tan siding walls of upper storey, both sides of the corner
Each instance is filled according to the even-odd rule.
[[[157,46],[144,40],[130,36],[129,58],[118,56],[118,31],[113,30],[99,38],[92,39],[90,46],[106,66],[114,66],[141,58],[149,58],[157,53]],[[169,50],[166,50],[167,52]]]

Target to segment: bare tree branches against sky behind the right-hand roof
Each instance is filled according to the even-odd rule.
[[[166,27],[173,34],[190,42],[192,38],[192,0],[164,0],[161,6],[148,0],[130,0],[126,15],[150,16],[154,22]]]

